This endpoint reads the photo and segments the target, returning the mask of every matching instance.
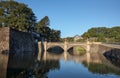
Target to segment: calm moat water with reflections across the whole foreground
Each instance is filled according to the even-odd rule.
[[[12,59],[8,66],[4,60],[0,78],[120,78],[120,61],[106,58],[103,51],[108,49],[95,47],[82,56],[47,52],[39,61]]]

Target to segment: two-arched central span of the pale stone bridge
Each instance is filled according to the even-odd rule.
[[[38,42],[40,45],[41,42]],[[84,42],[84,43],[68,43],[68,42],[43,42],[44,45],[44,50],[47,51],[49,48],[59,46],[61,47],[64,52],[67,52],[70,48],[75,47],[75,46],[80,46],[83,47],[86,51],[90,50],[90,45],[91,44],[101,44],[100,42]]]

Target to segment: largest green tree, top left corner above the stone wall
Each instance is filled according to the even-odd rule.
[[[35,22],[36,17],[27,5],[11,0],[0,2],[0,27],[30,31]]]

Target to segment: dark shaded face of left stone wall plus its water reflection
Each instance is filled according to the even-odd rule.
[[[29,68],[33,65],[36,50],[32,34],[10,29],[10,68]]]

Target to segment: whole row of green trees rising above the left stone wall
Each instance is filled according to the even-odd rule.
[[[40,33],[47,41],[59,41],[61,32],[51,29],[48,16],[36,23],[32,9],[14,0],[0,1],[0,27],[11,27],[19,31]]]

